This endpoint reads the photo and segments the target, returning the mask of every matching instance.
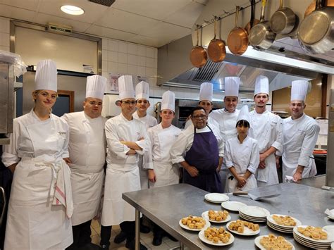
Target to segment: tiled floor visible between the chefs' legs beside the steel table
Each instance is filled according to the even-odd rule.
[[[101,227],[99,225],[99,222],[97,220],[93,220],[92,221],[92,243],[94,244],[98,244],[101,240],[100,238],[100,230]],[[120,227],[118,225],[113,226],[112,230],[111,230],[111,239],[110,239],[110,250],[128,250],[125,247],[125,242],[122,242],[120,244],[115,244],[113,243],[113,238],[116,237],[116,235],[118,235],[118,233],[120,232]],[[168,237],[163,237],[163,241],[162,244],[160,246],[153,246],[152,245],[152,240],[153,240],[153,233],[149,232],[148,234],[140,234],[140,242],[142,242],[142,244],[144,244],[144,246],[147,247],[147,249],[150,250],[168,250],[171,247],[175,247],[175,246],[180,246],[179,242],[173,242],[171,239],[168,239]]]

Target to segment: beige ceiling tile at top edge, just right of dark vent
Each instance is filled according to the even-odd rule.
[[[116,1],[112,7],[130,13],[144,15],[149,18],[161,20],[168,17],[192,0],[121,0]]]

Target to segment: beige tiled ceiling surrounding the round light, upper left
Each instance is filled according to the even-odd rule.
[[[0,0],[0,16],[73,31],[159,47],[191,33],[209,0],[116,0],[111,7],[87,0]],[[62,5],[84,9],[68,15]]]

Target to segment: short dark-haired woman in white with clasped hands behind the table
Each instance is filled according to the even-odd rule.
[[[225,192],[256,188],[254,174],[259,166],[259,145],[247,135],[249,130],[248,106],[243,106],[237,118],[237,136],[225,144],[226,167],[230,170]]]

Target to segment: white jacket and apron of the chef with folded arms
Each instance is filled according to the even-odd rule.
[[[101,225],[118,225],[135,220],[135,208],[122,199],[124,192],[140,190],[138,154],[149,150],[146,128],[139,120],[127,120],[122,113],[106,121],[108,155]],[[140,140],[141,137],[144,139]],[[120,141],[135,142],[142,150],[127,155],[130,148]]]

